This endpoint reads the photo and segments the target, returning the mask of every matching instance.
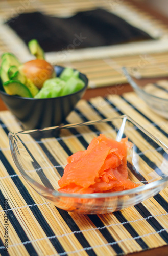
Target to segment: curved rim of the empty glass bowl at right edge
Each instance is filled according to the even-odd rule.
[[[149,96],[149,97],[151,97],[151,98],[153,98],[153,99],[155,99],[155,100],[162,100],[162,101],[168,103],[168,100],[167,100],[167,99],[165,99],[165,98],[160,98],[160,97],[158,97],[158,96],[152,95],[152,94],[150,94],[150,93],[148,93],[148,92],[142,90],[142,89],[140,88],[140,86],[132,79],[132,76],[130,75],[130,73],[129,73],[129,71],[128,71],[128,69],[127,69],[126,67],[123,67],[122,70],[123,70],[123,73],[124,73],[125,77],[127,78],[127,81],[128,81],[129,84],[133,87],[133,89],[138,90],[140,93],[143,93],[145,96]]]

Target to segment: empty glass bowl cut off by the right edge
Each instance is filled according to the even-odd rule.
[[[159,76],[166,75],[167,69],[160,67],[159,70],[156,65],[150,65],[149,69],[146,66],[142,68],[124,67],[123,72],[133,90],[150,109],[168,118],[168,80],[166,77],[162,80],[158,79]]]

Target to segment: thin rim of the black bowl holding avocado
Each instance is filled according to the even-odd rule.
[[[60,65],[54,65],[54,68],[55,68],[55,67],[62,68],[63,70],[66,68],[66,67],[63,67],[63,66],[60,66]],[[77,70],[77,69],[74,69],[74,70]],[[64,95],[64,96],[59,96],[59,97],[54,97],[54,98],[41,98],[41,99],[36,99],[36,98],[27,98],[27,97],[20,97],[20,96],[16,96],[16,95],[10,95],[10,94],[8,94],[8,93],[6,93],[6,92],[3,92],[3,91],[1,91],[1,90],[0,90],[0,94],[3,94],[3,95],[5,95],[5,96],[7,96],[7,97],[9,97],[9,98],[11,97],[11,98],[16,98],[16,99],[38,100],[38,101],[40,101],[40,100],[53,100],[53,99],[59,99],[59,98],[66,98],[66,97],[68,97],[68,96],[76,95],[76,94],[78,94],[78,93],[80,93],[80,92],[82,92],[82,91],[85,91],[85,89],[87,88],[87,86],[88,86],[88,81],[89,81],[88,78],[87,78],[87,76],[86,76],[85,74],[81,73],[81,72],[79,72],[79,74],[85,77],[85,79],[86,79],[85,86],[84,86],[81,90],[79,90],[79,91],[77,91],[77,92],[75,92],[75,93],[67,94],[67,95]]]

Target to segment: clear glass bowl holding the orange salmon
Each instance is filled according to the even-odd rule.
[[[115,193],[65,194],[58,192],[66,158],[87,148],[100,133],[128,137],[133,147],[127,156],[129,178],[140,186]],[[168,147],[130,117],[67,124],[42,130],[9,133],[13,160],[37,193],[67,211],[104,214],[136,205],[168,184]],[[79,169],[80,172],[80,169]]]

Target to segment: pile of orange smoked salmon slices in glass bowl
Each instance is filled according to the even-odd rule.
[[[62,178],[62,193],[105,193],[132,189],[138,185],[128,179],[127,151],[132,146],[127,138],[120,142],[104,134],[92,139],[84,151],[67,158]]]

